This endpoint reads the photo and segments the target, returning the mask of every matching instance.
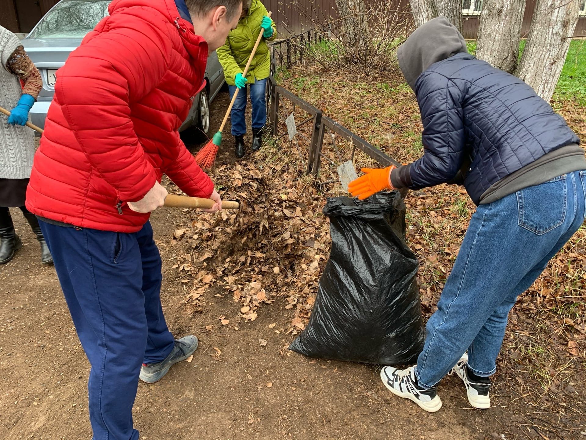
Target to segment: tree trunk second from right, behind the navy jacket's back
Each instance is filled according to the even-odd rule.
[[[519,40],[525,0],[484,0],[476,58],[513,73],[519,60]]]

